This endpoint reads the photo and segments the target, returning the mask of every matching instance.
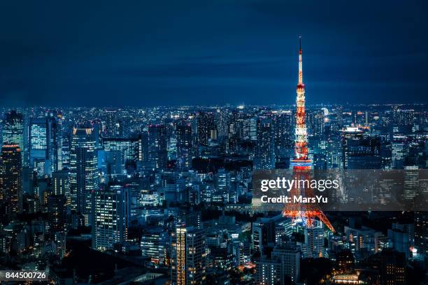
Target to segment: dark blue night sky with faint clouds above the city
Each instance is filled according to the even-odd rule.
[[[426,1],[1,1],[1,105],[428,100]]]

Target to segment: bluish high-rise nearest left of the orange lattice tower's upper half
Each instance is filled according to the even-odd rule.
[[[257,145],[254,166],[256,169],[275,168],[275,135],[273,122],[269,118],[257,119]]]

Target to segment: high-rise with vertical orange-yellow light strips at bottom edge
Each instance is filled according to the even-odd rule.
[[[178,225],[172,236],[171,284],[206,283],[206,244],[204,231]]]

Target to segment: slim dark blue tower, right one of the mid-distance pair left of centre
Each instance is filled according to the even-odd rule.
[[[176,127],[177,136],[177,168],[192,168],[192,127],[181,124]]]

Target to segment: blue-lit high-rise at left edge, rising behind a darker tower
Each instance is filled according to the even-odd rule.
[[[12,110],[6,113],[2,131],[3,144],[18,145],[21,152],[24,150],[24,119],[21,113]],[[22,166],[25,165],[24,155],[21,154]]]

